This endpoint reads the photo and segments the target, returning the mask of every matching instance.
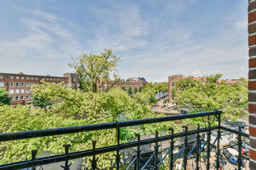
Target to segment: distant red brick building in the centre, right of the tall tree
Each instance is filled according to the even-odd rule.
[[[111,87],[113,83],[115,83],[115,81],[104,82],[102,85],[102,91]],[[128,91],[129,87],[131,87],[132,92],[134,92],[135,88],[138,90],[140,87],[144,88],[146,87],[147,83],[148,82],[145,80],[145,78],[131,78],[129,81],[117,81],[114,86],[120,88],[124,87],[126,91]]]

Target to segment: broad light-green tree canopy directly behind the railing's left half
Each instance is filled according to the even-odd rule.
[[[56,85],[45,81],[42,81],[42,83],[42,85],[32,87],[31,90],[34,96],[58,102],[52,104],[51,110],[31,108],[28,105],[17,107],[0,106],[0,121],[2,122],[0,124],[0,131],[2,133],[164,116],[163,114],[154,113],[148,107],[148,98],[154,95],[154,90],[151,88],[143,89],[136,96],[129,97],[127,92],[117,87],[110,89],[108,92],[94,93],[62,87],[61,83]],[[77,115],[81,115],[82,118],[77,118]],[[130,141],[130,139],[135,138],[135,134],[138,132],[141,135],[152,134],[154,131],[159,131],[163,134],[163,130],[166,131],[170,127],[175,127],[175,132],[178,132],[180,129],[180,125],[176,125],[175,122],[121,128],[121,142]],[[38,149],[38,155],[42,152],[51,152],[52,155],[64,153],[63,143],[70,144],[70,150],[72,151],[91,149],[92,140],[97,141],[97,148],[112,146],[116,144],[116,137],[113,136],[115,133],[116,129],[106,129],[104,131],[22,139],[8,141],[8,143],[3,142],[0,143],[0,150],[3,153],[0,164],[30,159],[31,150],[34,149]],[[97,166],[109,169],[111,161],[115,161],[109,159],[109,157],[114,157],[113,154],[100,154]],[[89,163],[84,160],[86,167],[88,167]]]

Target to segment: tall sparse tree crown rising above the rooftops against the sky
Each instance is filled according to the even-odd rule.
[[[73,63],[69,63],[68,66],[76,69],[76,74],[79,74],[79,80],[84,91],[100,92],[103,83],[110,80],[109,75],[111,73],[115,78],[114,81],[119,81],[116,66],[120,58],[116,57],[111,49],[104,48],[104,52],[100,55],[83,53],[83,55],[72,58],[72,60]]]

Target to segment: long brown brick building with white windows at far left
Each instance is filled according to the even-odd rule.
[[[63,77],[50,75],[38,76],[23,73],[0,73],[0,88],[9,92],[12,99],[11,104],[28,104],[33,99],[33,93],[30,88],[33,85],[40,84],[40,80],[52,83],[64,82],[63,86],[66,85],[74,89],[79,88],[78,76],[73,73],[64,73]]]

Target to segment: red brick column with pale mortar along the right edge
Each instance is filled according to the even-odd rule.
[[[248,1],[250,169],[256,170],[256,0]]]

